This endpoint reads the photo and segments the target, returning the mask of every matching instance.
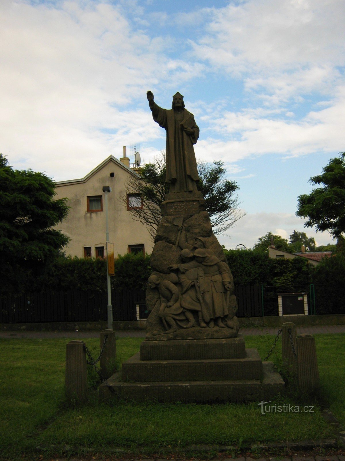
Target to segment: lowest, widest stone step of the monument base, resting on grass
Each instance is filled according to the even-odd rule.
[[[263,380],[244,379],[226,381],[172,381],[138,382],[120,381],[116,373],[99,387],[101,400],[121,398],[134,402],[261,402],[270,400],[284,389],[279,373],[271,362],[263,364]],[[259,409],[258,409],[259,411]]]

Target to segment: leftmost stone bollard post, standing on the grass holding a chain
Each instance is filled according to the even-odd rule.
[[[87,394],[85,343],[78,339],[66,345],[66,397],[83,400]]]

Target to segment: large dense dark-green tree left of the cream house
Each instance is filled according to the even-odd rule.
[[[69,238],[52,227],[68,213],[54,200],[53,181],[43,173],[13,170],[0,154],[0,284],[20,290],[29,272],[41,270]]]

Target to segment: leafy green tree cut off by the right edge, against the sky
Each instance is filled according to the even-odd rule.
[[[345,231],[345,152],[331,159],[322,174],[309,182],[316,187],[310,194],[299,195],[297,216],[308,218],[305,227],[329,231],[339,237]]]

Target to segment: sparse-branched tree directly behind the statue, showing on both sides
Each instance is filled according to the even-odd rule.
[[[235,225],[236,221],[245,215],[238,209],[240,202],[236,191],[239,189],[235,181],[224,179],[224,163],[214,161],[212,164],[198,162],[198,189],[205,199],[205,207],[210,215],[213,232],[224,233]],[[157,227],[161,221],[160,204],[164,195],[169,192],[169,184],[165,182],[165,153],[155,158],[154,163],[148,163],[138,169],[138,177],[131,177],[127,182],[126,194],[140,194],[143,198],[143,208],[133,208],[129,211],[133,219],[145,224],[155,238]],[[121,201],[127,206],[127,197]]]

